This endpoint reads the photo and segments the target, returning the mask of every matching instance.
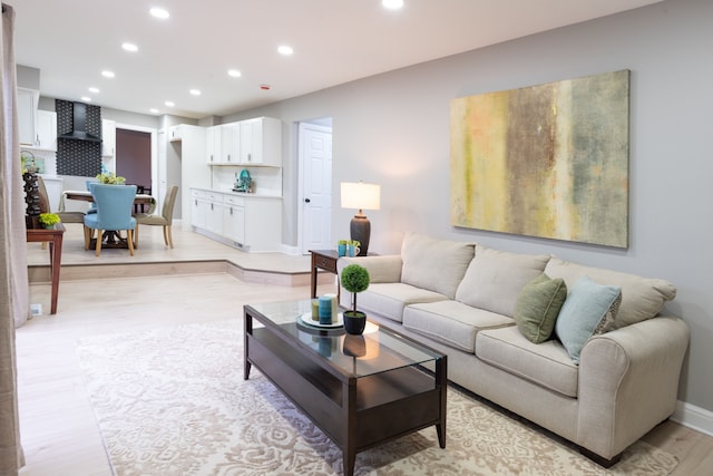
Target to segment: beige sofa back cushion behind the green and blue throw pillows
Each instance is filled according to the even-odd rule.
[[[549,260],[545,272],[550,278],[563,278],[568,289],[572,289],[577,280],[584,275],[588,275],[600,284],[621,286],[622,305],[614,321],[615,329],[653,318],[662,310],[666,301],[676,297],[676,288],[664,280],[589,268],[558,258]]]

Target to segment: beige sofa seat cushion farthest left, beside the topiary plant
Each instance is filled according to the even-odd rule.
[[[349,295],[349,293],[345,293]],[[351,299],[351,298],[349,298]],[[369,284],[364,292],[356,295],[356,308],[359,310],[375,312],[384,318],[397,322],[403,320],[403,308],[418,302],[445,301],[448,298],[433,291],[416,288],[403,283],[375,283]],[[344,301],[342,293],[342,304],[350,307],[350,301]]]

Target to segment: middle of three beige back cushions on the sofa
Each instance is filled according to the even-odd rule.
[[[510,253],[477,245],[476,258],[468,265],[456,299],[511,318],[522,288],[545,270],[548,260],[546,254]]]

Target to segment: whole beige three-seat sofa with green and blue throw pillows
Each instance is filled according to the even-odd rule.
[[[661,315],[676,292],[666,281],[416,233],[401,254],[343,258],[338,271],[350,263],[370,272],[358,298],[370,319],[448,354],[449,380],[603,466],[674,412],[688,329]]]

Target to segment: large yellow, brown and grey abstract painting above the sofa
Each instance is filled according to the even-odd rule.
[[[628,246],[629,71],[451,101],[451,224]]]

